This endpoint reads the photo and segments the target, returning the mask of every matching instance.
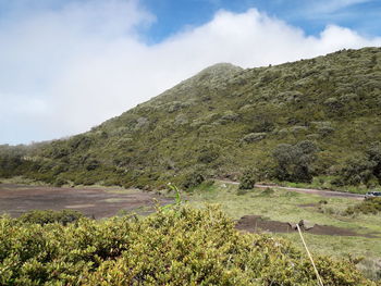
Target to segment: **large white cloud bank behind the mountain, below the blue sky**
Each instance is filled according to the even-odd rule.
[[[99,0],[0,26],[0,144],[84,132],[217,62],[253,67],[381,46],[337,26],[306,36],[255,9],[220,11],[148,46],[138,30],[152,21],[137,1]]]

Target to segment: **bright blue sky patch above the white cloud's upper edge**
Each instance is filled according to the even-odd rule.
[[[243,13],[256,8],[303,28],[307,35],[317,35],[329,24],[366,35],[381,33],[379,0],[145,0],[143,3],[158,18],[147,35],[151,41],[160,41],[182,27],[207,23],[220,9]]]

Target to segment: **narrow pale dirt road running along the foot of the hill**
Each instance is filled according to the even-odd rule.
[[[221,179],[220,182],[225,183],[225,184],[239,185],[238,182],[233,182],[233,181]],[[303,192],[303,194],[314,194],[314,195],[319,195],[322,197],[349,198],[349,199],[355,199],[355,200],[362,200],[365,197],[364,195],[360,195],[360,194],[352,194],[352,192],[334,191],[334,190],[281,187],[281,186],[276,186],[276,185],[261,185],[261,184],[257,184],[255,186],[256,186],[256,188],[278,188],[278,189],[285,189],[285,190],[297,191],[297,192]]]

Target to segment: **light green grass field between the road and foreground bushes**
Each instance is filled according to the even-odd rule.
[[[376,278],[381,274],[381,215],[343,214],[347,207],[359,202],[349,198],[327,198],[276,188],[242,192],[236,185],[222,182],[216,182],[212,186],[201,185],[188,197],[188,203],[197,208],[206,203],[221,204],[223,211],[235,220],[255,214],[273,221],[297,223],[307,220],[319,225],[348,228],[358,234],[373,234],[373,237],[362,237],[306,233],[305,239],[315,253],[348,259],[365,258],[359,268],[365,269],[368,276]],[[295,247],[303,248],[297,233],[274,235],[288,238]]]

